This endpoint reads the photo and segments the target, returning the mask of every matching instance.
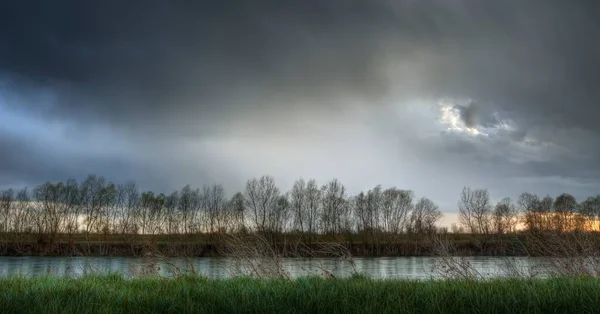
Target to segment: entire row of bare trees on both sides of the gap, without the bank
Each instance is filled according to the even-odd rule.
[[[591,230],[600,218],[600,195],[578,203],[570,194],[540,198],[523,193],[492,204],[486,189],[465,187],[459,224],[451,232],[481,235],[523,230]],[[78,183],[46,182],[33,190],[0,192],[0,232],[66,234],[189,235],[261,232],[306,235],[360,234],[378,242],[402,234],[448,232],[439,207],[410,190],[380,185],[349,195],[337,179],[323,185],[298,179],[282,192],[271,176],[247,181],[227,196],[223,186],[189,185],[171,194],[140,191],[133,182],[115,184],[89,175]],[[597,227],[597,226],[596,226]]]

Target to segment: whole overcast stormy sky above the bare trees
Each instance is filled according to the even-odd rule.
[[[600,193],[598,1],[6,1],[0,188]]]

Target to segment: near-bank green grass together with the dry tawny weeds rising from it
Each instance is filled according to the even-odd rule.
[[[0,279],[0,306],[3,313],[591,313],[600,306],[600,254],[588,234],[531,239],[555,254],[545,278],[515,268],[491,280],[452,255],[443,238],[432,242],[446,279],[423,281],[373,280],[356,272],[336,278],[327,269],[292,279],[267,238],[229,241],[245,265],[231,279],[207,279],[193,269],[167,279],[152,263],[132,279],[15,276]],[[325,249],[352,264],[343,246]]]

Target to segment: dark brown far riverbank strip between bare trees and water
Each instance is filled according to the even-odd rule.
[[[0,256],[169,256],[221,257],[230,251],[227,241],[216,236],[147,236],[147,235],[57,235],[53,241],[40,241],[35,235],[0,237]],[[464,256],[522,256],[524,239],[514,235],[481,241],[468,234],[447,235],[445,240],[453,253]],[[279,236],[274,247],[285,257],[332,257],[323,246],[341,245],[356,257],[433,256],[436,246],[427,236],[401,236],[365,242],[359,236],[316,236],[310,242],[298,241],[298,236]],[[483,243],[483,244],[482,244]],[[302,249],[297,249],[300,245]]]

